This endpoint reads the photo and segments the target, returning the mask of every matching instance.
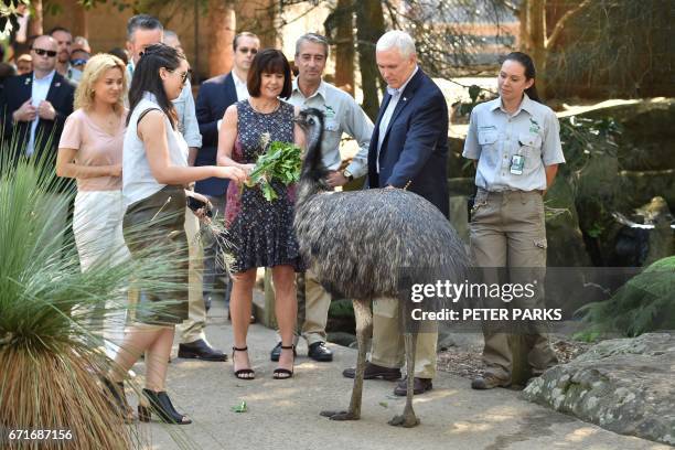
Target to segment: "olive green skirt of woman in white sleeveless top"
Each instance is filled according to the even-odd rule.
[[[141,270],[152,279],[135,280],[140,292],[131,314],[133,321],[171,325],[188,319],[189,253],[184,224],[182,186],[165,186],[127,207],[122,231],[131,257],[159,267]]]

